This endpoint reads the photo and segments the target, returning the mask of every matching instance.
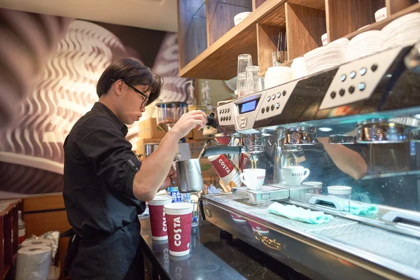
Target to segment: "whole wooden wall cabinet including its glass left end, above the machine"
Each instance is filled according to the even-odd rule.
[[[321,46],[325,33],[328,41],[353,38],[420,10],[417,0],[178,0],[178,5],[180,76],[216,80],[236,76],[242,53],[251,54],[264,74],[281,32],[289,65]],[[385,6],[388,18],[374,22],[374,12]],[[235,15],[244,11],[252,13],[235,26]]]

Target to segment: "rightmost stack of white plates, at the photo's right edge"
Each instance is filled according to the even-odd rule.
[[[403,15],[381,30],[383,50],[397,45],[411,45],[420,41],[420,13]]]

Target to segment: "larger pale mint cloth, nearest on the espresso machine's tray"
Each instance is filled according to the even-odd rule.
[[[283,205],[278,202],[274,202],[268,207],[270,214],[283,216],[290,218],[291,220],[300,221],[303,223],[328,223],[333,219],[331,215],[324,214],[321,211],[311,211],[295,205]]]

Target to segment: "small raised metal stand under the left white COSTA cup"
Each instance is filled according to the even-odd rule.
[[[265,200],[283,200],[290,197],[290,191],[284,188],[273,186],[262,186],[261,190],[250,190],[248,188],[232,188],[233,195],[243,197],[246,195],[250,202],[261,202]]]

